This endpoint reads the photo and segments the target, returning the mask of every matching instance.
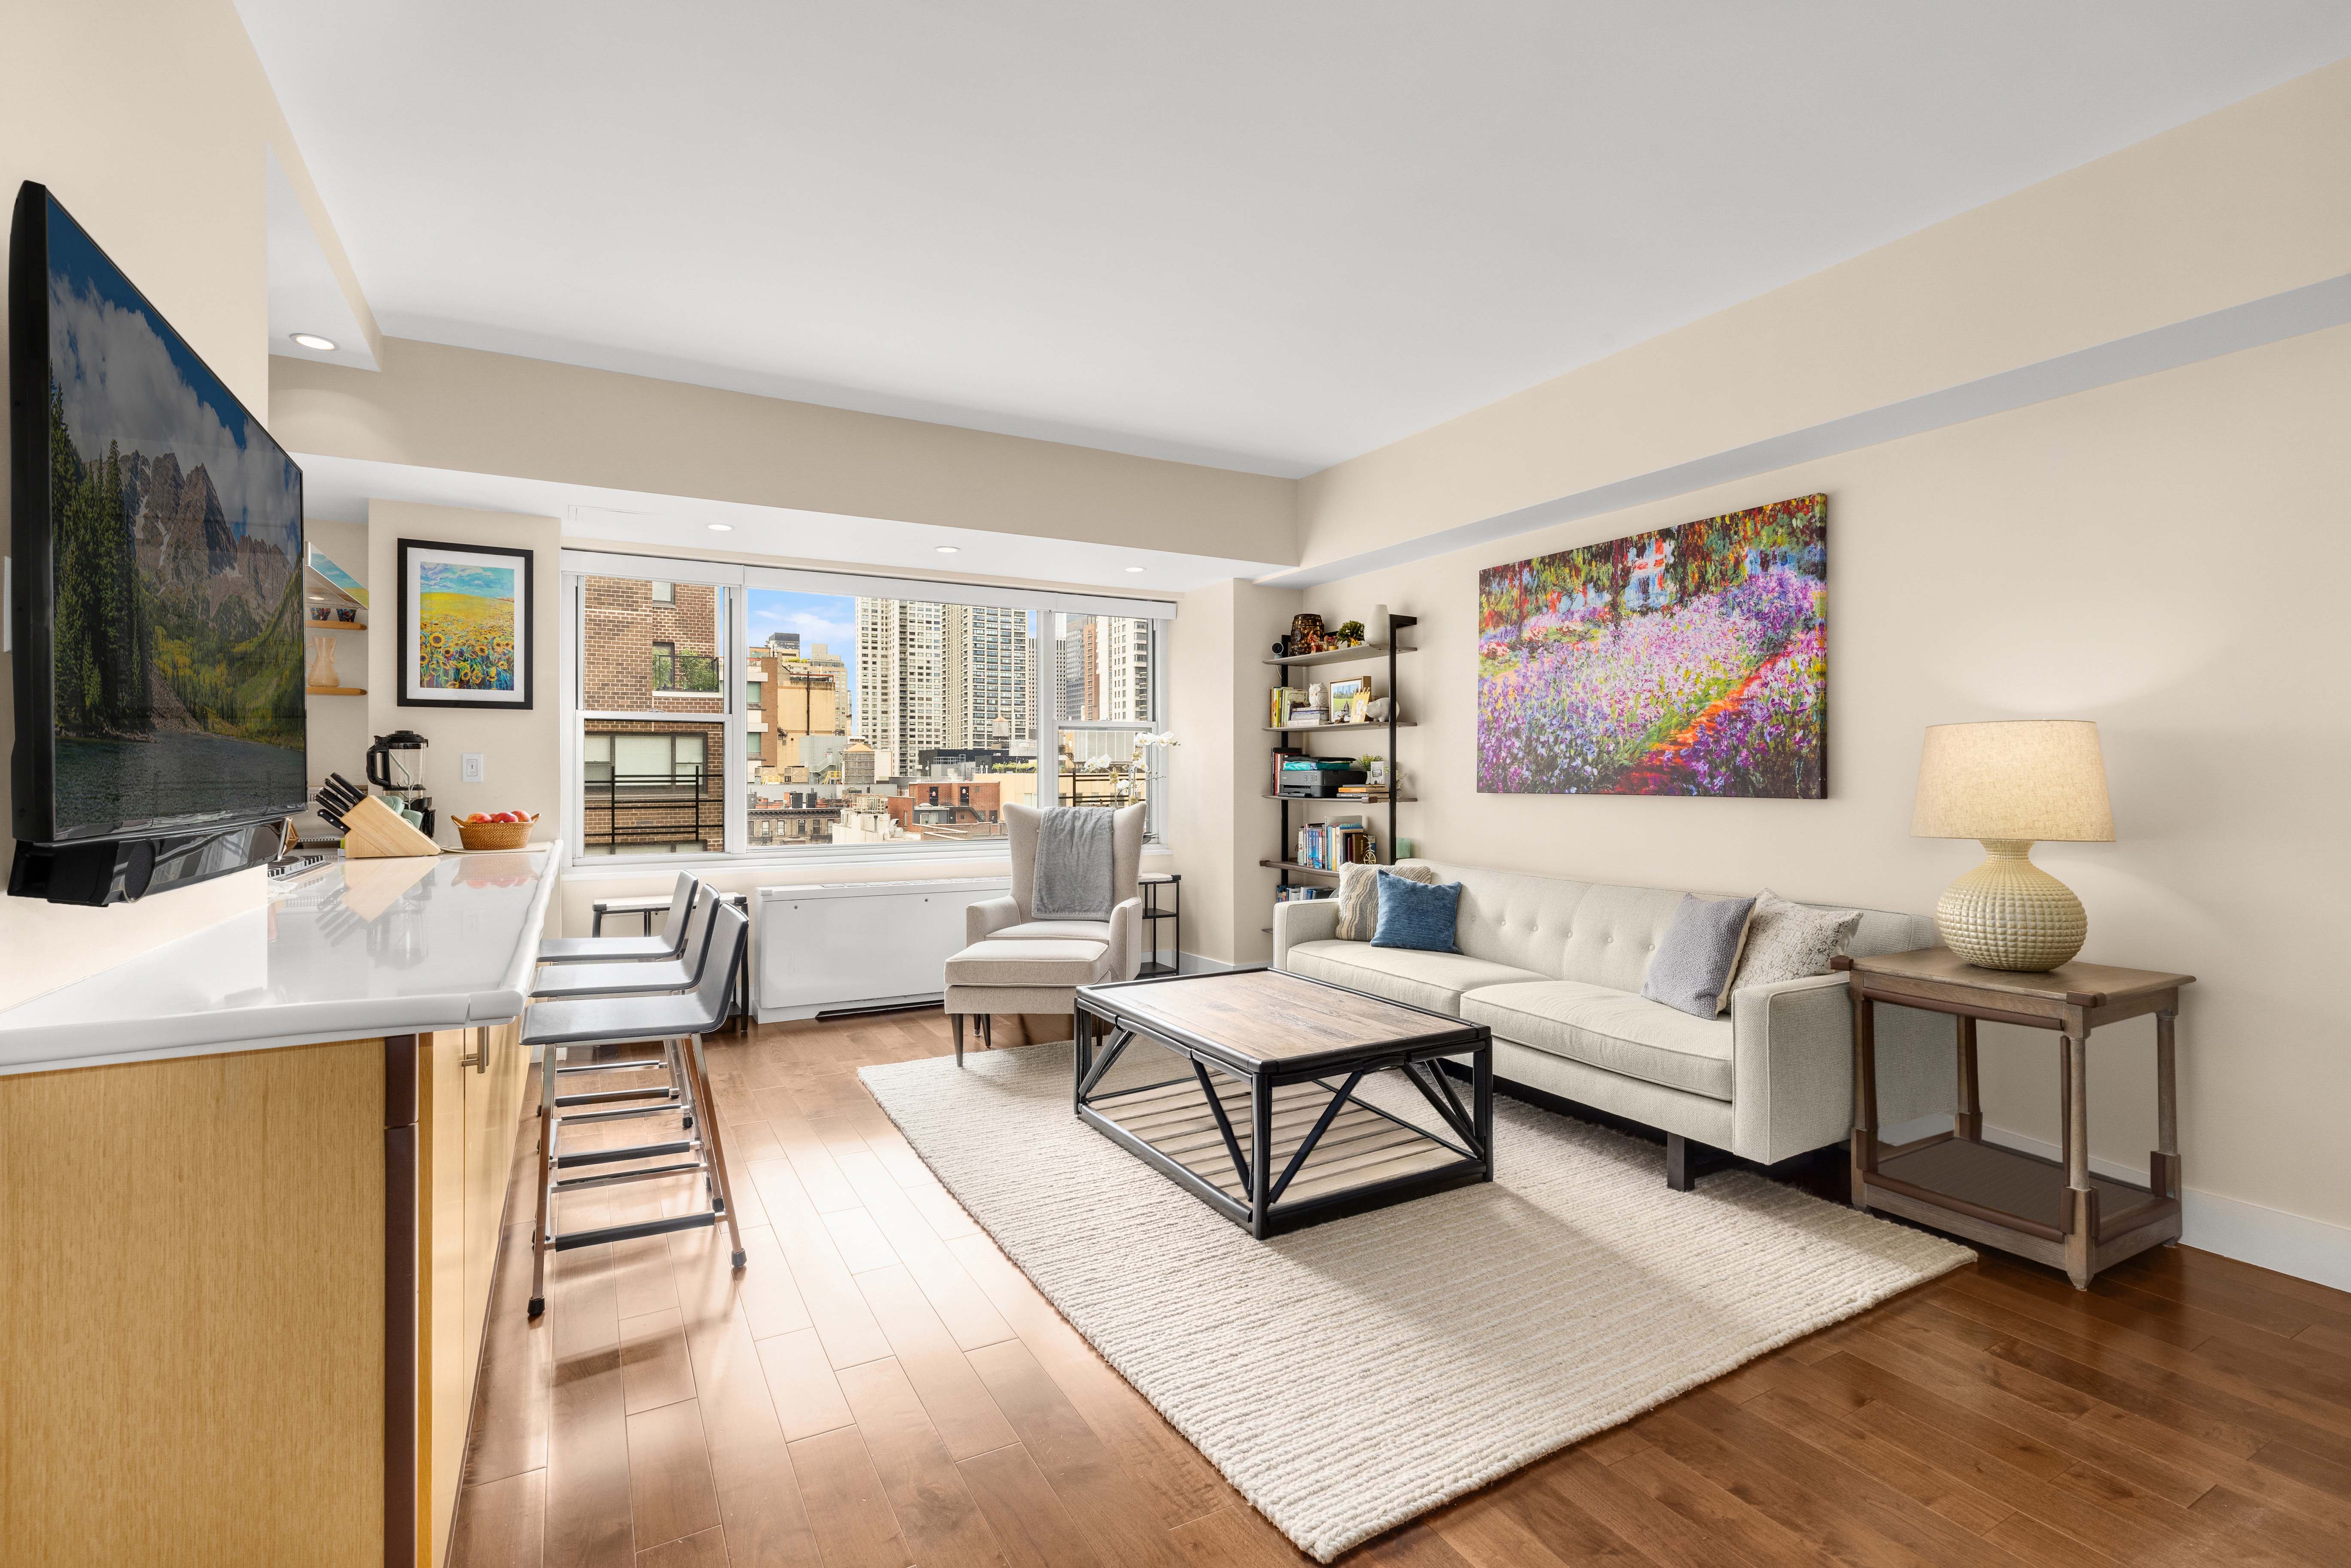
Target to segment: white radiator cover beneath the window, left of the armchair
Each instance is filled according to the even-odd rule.
[[[759,1023],[940,999],[964,910],[1011,891],[1011,877],[759,889]]]

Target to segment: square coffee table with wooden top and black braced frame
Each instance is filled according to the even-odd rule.
[[[1105,1086],[1138,1039],[1190,1072]],[[1467,1107],[1441,1056],[1472,1058]],[[1401,1072],[1429,1117],[1415,1124],[1359,1100],[1373,1072]],[[1072,1105],[1260,1241],[1493,1180],[1483,1025],[1279,969],[1079,985]]]

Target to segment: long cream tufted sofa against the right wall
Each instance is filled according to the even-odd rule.
[[[1681,889],[1636,889],[1422,863],[1460,882],[1458,952],[1338,940],[1338,903],[1274,905],[1274,969],[1453,1013],[1493,1030],[1493,1072],[1667,1133],[1667,1180],[1690,1185],[1686,1143],[1777,1164],[1853,1128],[1853,1006],[1841,973],[1733,992],[1721,1018],[1641,997]],[[1843,905],[1853,907],[1853,905]],[[1921,914],[1864,910],[1855,957],[1933,947]],[[1954,1025],[1878,1009],[1878,1119],[1949,1112]]]

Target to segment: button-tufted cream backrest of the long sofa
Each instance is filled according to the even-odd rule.
[[[1648,959],[1681,905],[1681,889],[1566,882],[1436,860],[1422,865],[1444,882],[1462,884],[1453,945],[1469,957],[1622,992],[1641,990]],[[1935,922],[1923,914],[1862,910],[1846,950],[1867,957],[1933,945]]]

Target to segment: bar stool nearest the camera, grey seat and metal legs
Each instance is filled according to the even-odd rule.
[[[736,969],[748,959],[748,931],[750,922],[741,910],[731,910],[717,898],[710,898],[708,914],[698,929],[703,947],[698,957],[703,961],[696,971],[698,983],[694,990],[656,997],[607,994],[564,1001],[534,1001],[531,1011],[524,1016],[522,1041],[527,1046],[541,1046],[543,1051],[538,1070],[538,1220],[531,1229],[531,1316],[545,1312],[548,1305],[550,1251],[562,1253],[574,1246],[661,1237],[672,1229],[705,1229],[724,1218],[726,1234],[734,1241],[734,1267],[741,1269],[748,1262],[748,1255],[743,1253],[743,1229],[736,1222],[734,1194],[726,1185],[726,1147],[719,1138],[717,1114],[710,1112],[710,1072],[703,1065],[703,1037],[726,1023],[729,992],[734,990]],[[616,1088],[574,1095],[555,1093],[555,1084],[562,1074],[611,1072],[621,1067],[618,1063],[564,1067],[564,1048],[618,1046],[647,1039],[658,1039],[663,1056],[661,1060],[647,1060],[644,1067],[668,1065],[668,1088]],[[625,1100],[656,1103],[616,1105]],[[560,1114],[564,1107],[574,1105],[597,1110],[578,1110],[569,1117]],[[562,1128],[569,1124],[600,1124],[625,1117],[661,1114],[682,1114],[684,1135],[621,1150],[578,1150],[571,1154],[562,1150]],[[632,1159],[661,1159],[665,1164],[642,1166],[635,1171],[611,1171],[602,1175],[562,1175],[562,1171],[571,1168],[614,1166]],[[705,1208],[684,1215],[665,1215],[661,1220],[597,1225],[592,1229],[576,1229],[567,1234],[555,1232],[555,1199],[564,1192],[665,1180],[694,1173],[701,1173],[703,1178],[703,1194],[708,1199]]]

